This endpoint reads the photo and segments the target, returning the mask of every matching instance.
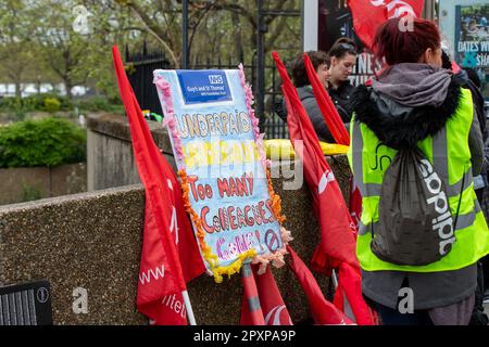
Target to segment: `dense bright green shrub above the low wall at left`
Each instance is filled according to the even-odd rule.
[[[86,132],[60,118],[24,120],[0,128],[0,167],[85,162]]]

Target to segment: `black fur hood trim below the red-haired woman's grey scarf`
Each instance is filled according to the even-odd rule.
[[[360,86],[353,94],[355,121],[364,123],[392,149],[414,146],[444,127],[459,106],[460,86],[460,80],[452,77],[447,98],[438,107],[405,106],[372,87]]]

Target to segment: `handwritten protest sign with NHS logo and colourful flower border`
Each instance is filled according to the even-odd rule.
[[[221,282],[247,261],[284,265],[290,236],[242,67],[155,70],[154,82],[208,272]]]

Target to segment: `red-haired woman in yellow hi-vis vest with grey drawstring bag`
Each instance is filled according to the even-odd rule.
[[[489,254],[489,230],[473,184],[482,163],[482,141],[471,92],[460,87],[451,70],[441,68],[440,34],[432,22],[389,20],[377,30],[374,52],[377,59],[385,59],[387,67],[369,87],[360,87],[353,95],[348,153],[362,193],[356,241],[362,293],[384,324],[467,324],[474,308],[476,262]],[[389,175],[393,169],[387,170],[400,163],[397,158],[406,153],[404,149],[422,159],[405,162],[418,164],[404,166],[404,172],[396,171],[392,179]],[[405,245],[405,252],[396,254],[392,249],[403,249],[409,237],[421,236],[416,228],[401,230],[410,236],[396,244],[399,233],[391,235],[390,230],[397,230],[396,223],[416,226],[416,220],[406,217],[404,223],[403,218],[385,217],[387,209],[396,214],[396,208],[404,208],[401,215],[409,216],[405,208],[423,205],[409,194],[396,205],[401,207],[386,207],[385,203],[391,198],[386,195],[396,195],[396,189],[383,182],[396,182],[406,171],[416,170],[425,175],[425,182],[400,182],[397,189],[410,191],[414,187],[414,195],[423,189],[438,190],[438,197],[442,197],[441,203],[438,197],[422,201],[428,207],[434,201],[438,208],[446,206],[443,215],[423,221],[423,228],[430,231],[432,227],[429,237],[440,237],[431,247],[439,253],[434,255],[435,261],[406,260],[422,257],[429,248],[422,242]],[[389,228],[384,229],[383,223]]]

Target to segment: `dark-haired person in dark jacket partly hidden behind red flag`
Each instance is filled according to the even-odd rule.
[[[325,86],[327,83],[328,77],[328,67],[329,67],[329,57],[323,51],[310,51],[308,52],[309,57],[311,59],[311,63],[316,70],[317,77],[319,81]],[[299,98],[308,113],[311,121],[313,124],[314,130],[317,133],[317,138],[319,141],[334,143],[335,139],[333,138],[326,121],[324,120],[323,114],[317,105],[317,101],[314,97],[311,82],[308,78],[308,73],[305,70],[304,60],[302,54],[298,56],[292,63],[291,76],[293,85],[297,88]],[[275,111],[278,116],[287,121],[287,106],[284,100],[280,100],[276,106]]]

